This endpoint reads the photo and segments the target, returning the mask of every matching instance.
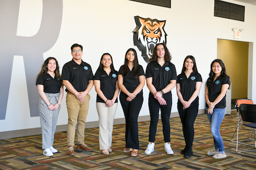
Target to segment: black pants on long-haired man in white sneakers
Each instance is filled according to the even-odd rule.
[[[158,100],[150,93],[148,97],[148,107],[150,110],[150,134],[149,142],[155,142],[156,128],[158,126],[159,109],[161,111],[161,118],[163,124],[163,135],[164,142],[170,142],[170,115],[172,108],[172,94],[168,92],[163,95],[164,100],[166,100],[167,105],[160,105]]]

